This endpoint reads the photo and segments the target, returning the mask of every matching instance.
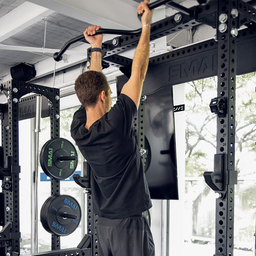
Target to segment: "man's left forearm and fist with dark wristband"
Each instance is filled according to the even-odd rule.
[[[87,40],[92,48],[100,48],[102,47],[102,38],[103,35],[94,35],[97,30],[99,30],[101,26],[89,26],[84,31],[84,38]],[[102,53],[101,52],[92,52],[91,61],[90,61],[90,70],[102,72]]]

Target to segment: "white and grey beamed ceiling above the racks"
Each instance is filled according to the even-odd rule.
[[[65,52],[67,61],[55,63],[52,54],[70,39],[81,35],[91,24],[98,24],[108,29],[140,28],[136,13],[137,2],[139,1],[0,0],[1,81],[12,79],[10,67],[21,62],[35,64],[36,78],[39,78],[53,73],[54,68],[61,70],[85,61],[89,45],[82,42],[73,44]],[[198,5],[196,0],[175,0],[175,2],[186,7]],[[154,21],[176,12],[172,8],[162,6],[155,10]],[[114,37],[116,35],[104,35],[103,41]],[[176,46],[178,39],[183,41],[183,37],[181,34],[172,41],[175,47],[178,46]]]

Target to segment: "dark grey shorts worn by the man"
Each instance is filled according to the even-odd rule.
[[[154,241],[144,215],[123,219],[99,217],[99,256],[155,256]]]

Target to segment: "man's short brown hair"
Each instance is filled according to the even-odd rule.
[[[108,81],[105,75],[98,71],[86,71],[75,82],[76,95],[84,108],[95,107],[99,93],[104,90],[106,96],[108,96],[108,89]]]

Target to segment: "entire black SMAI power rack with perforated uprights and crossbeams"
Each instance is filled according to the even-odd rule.
[[[145,79],[147,86],[143,88],[143,94],[146,95],[152,88],[157,89],[159,76],[163,80],[161,86],[172,86],[186,81],[218,76],[218,97],[212,99],[210,104],[211,111],[218,115],[217,152],[214,172],[204,173],[204,177],[207,184],[218,193],[215,256],[233,256],[234,185],[237,183],[237,172],[234,170],[233,164],[235,157],[236,75],[256,71],[256,9],[241,0],[211,0],[205,5],[198,5],[185,11],[180,9],[176,15],[151,24],[151,40],[199,24],[207,24],[215,28],[215,40],[207,40],[150,58],[148,75]],[[241,26],[247,28],[239,30]],[[104,42],[102,44],[103,67],[118,67],[125,75],[129,76],[132,59],[125,58],[119,53],[136,47],[139,38],[139,34],[125,35],[124,31],[123,36]],[[91,49],[87,51],[87,60],[90,60],[90,51]],[[53,103],[52,108],[49,109],[49,116],[51,116],[51,138],[54,138],[59,137],[59,119],[57,118],[59,100],[58,97],[55,98],[59,96],[59,91],[13,80],[1,84],[1,91],[8,98],[8,103],[0,105],[0,118],[2,119],[0,178],[3,180],[3,192],[0,193],[0,223],[3,226],[0,233],[0,253],[6,256],[18,256],[20,252],[19,99],[26,93],[39,93]],[[52,194],[58,194],[59,181],[52,179],[51,182]],[[90,255],[87,253],[91,253],[91,250],[93,255],[97,255],[97,216],[92,211],[90,192],[87,194],[87,203],[87,232],[92,236],[91,249],[59,250],[60,237],[52,235],[52,252],[37,255]],[[86,239],[86,241],[88,240]],[[88,247],[88,243],[86,247]]]

